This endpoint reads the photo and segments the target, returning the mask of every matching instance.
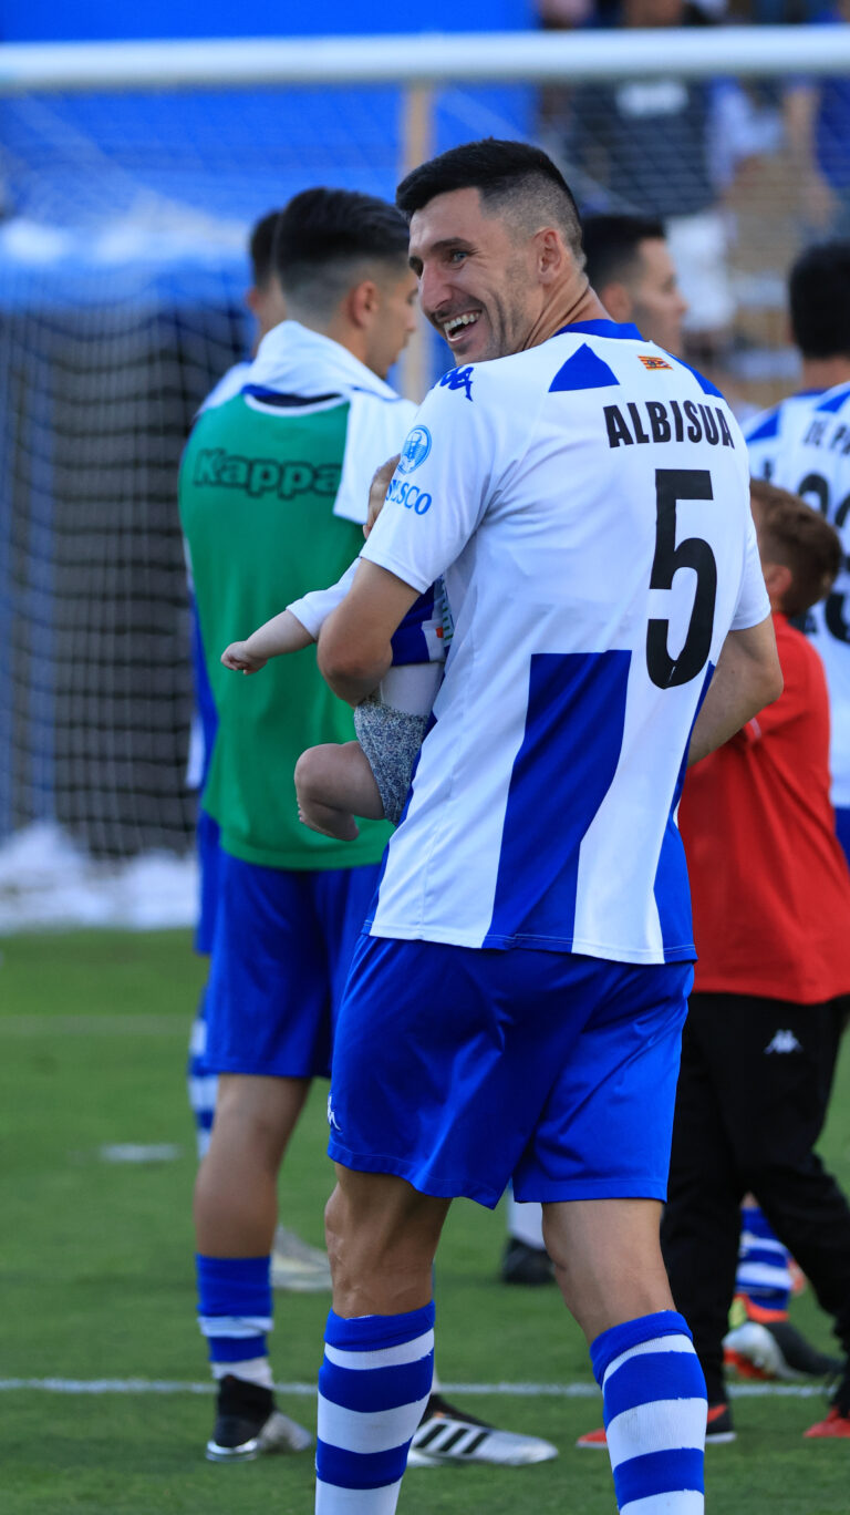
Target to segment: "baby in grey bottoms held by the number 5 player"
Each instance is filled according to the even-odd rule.
[[[259,673],[270,658],[297,653],[318,641],[323,623],[345,598],[356,567],[353,562],[330,589],[314,589],[294,600],[247,641],[230,642],[221,654],[224,667]],[[445,591],[438,580],[408,611],[392,636],[392,665],[377,689],[356,706],[358,741],[311,747],[298,758],[295,795],[305,826],[353,841],[356,815],[398,824],[450,635]]]

